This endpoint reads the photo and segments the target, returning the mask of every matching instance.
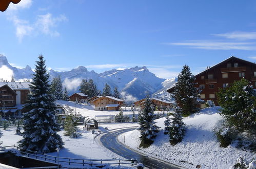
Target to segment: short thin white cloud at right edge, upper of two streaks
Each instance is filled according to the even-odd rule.
[[[229,39],[238,39],[238,40],[256,39],[256,32],[229,32],[229,33],[220,33],[220,34],[213,34],[213,35],[225,37]]]

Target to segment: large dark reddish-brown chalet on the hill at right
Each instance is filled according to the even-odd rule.
[[[200,95],[202,100],[205,102],[212,100],[218,105],[216,92],[219,91],[219,88],[226,88],[241,78],[251,81],[251,85],[256,89],[256,64],[231,56],[195,75],[195,82],[197,83],[195,87],[202,90]],[[168,89],[167,92],[171,93],[173,89],[174,87]],[[200,107],[205,108],[205,104],[201,104]]]

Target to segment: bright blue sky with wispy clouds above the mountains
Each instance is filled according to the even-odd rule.
[[[256,1],[22,0],[0,13],[0,53],[13,66],[147,66],[171,78],[234,55],[256,61]]]

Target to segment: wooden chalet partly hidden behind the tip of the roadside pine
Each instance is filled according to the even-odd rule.
[[[133,102],[135,107],[140,107],[140,105],[142,105],[145,101],[144,99],[138,100]],[[157,106],[157,109],[159,110],[166,110],[167,107],[172,107],[172,103],[169,101],[166,101],[164,99],[159,99],[159,98],[151,98],[151,104],[154,105],[154,107]]]

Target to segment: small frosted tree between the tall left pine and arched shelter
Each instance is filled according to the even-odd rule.
[[[76,127],[77,125],[77,120],[74,117],[73,114],[68,115],[65,119],[65,124],[64,124],[64,135],[69,136],[69,138],[77,138],[81,134],[78,133],[78,129]]]

